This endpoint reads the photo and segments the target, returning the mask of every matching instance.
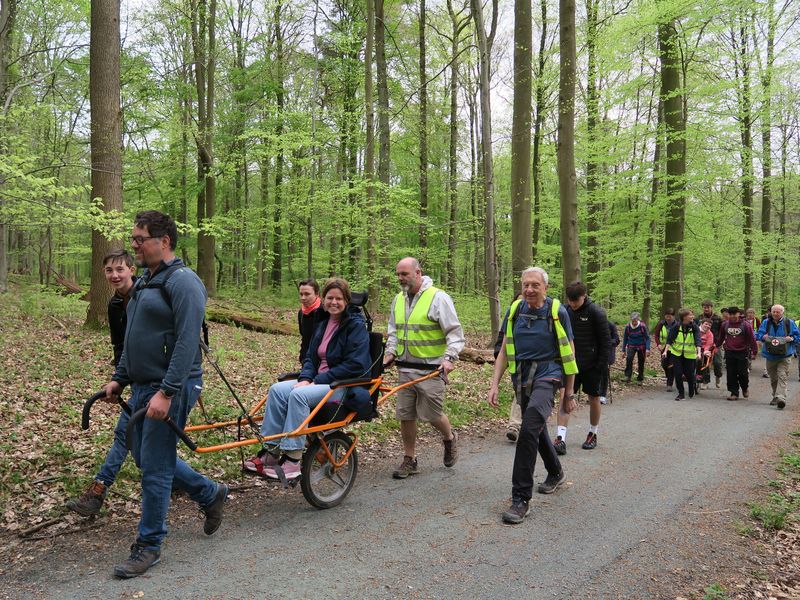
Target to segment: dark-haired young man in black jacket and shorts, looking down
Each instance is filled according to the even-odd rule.
[[[575,361],[578,374],[575,376],[575,393],[581,388],[589,397],[589,433],[583,443],[584,450],[597,446],[597,430],[600,425],[600,396],[603,395],[604,374],[608,369],[611,352],[611,335],[606,311],[592,302],[586,294],[586,286],[576,281],[567,286],[567,313],[575,336]],[[567,426],[569,413],[558,411],[558,431],[553,442],[558,454],[567,453]]]

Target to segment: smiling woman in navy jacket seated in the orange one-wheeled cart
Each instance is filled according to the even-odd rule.
[[[350,305],[350,286],[344,279],[329,279],[322,288],[326,315],[317,326],[303,369],[297,379],[276,383],[269,389],[261,434],[272,436],[290,433],[308,418],[311,409],[330,391],[333,381],[364,377],[370,371],[369,335],[361,310]],[[362,408],[369,392],[358,388],[354,397],[349,388],[333,392],[329,402],[343,403],[351,410]],[[358,393],[358,392],[363,392]],[[277,478],[276,467],[283,454],[283,472],[287,479],[300,476],[300,458],[305,436],[284,437],[267,443],[267,447],[245,462],[245,470],[265,477]]]

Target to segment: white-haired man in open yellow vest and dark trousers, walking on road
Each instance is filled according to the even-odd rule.
[[[494,363],[487,400],[497,406],[500,379],[506,367],[515,374],[514,394],[522,408],[522,427],[514,454],[511,507],[503,513],[506,523],[521,523],[530,512],[536,452],[542,455],[547,478],[540,494],[552,494],[566,476],[547,432],[554,397],[561,389],[564,411],[576,408],[572,393],[578,365],[567,309],[547,296],[547,272],[529,267],[522,272],[522,299],[509,308],[503,348]]]

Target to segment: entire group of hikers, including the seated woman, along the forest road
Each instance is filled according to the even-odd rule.
[[[207,294],[199,277],[175,256],[177,239],[177,227],[169,215],[140,212],[130,238],[135,257],[118,251],[104,260],[105,276],[114,289],[108,313],[115,364],[111,381],[104,386],[104,399],[117,402],[122,390],[130,386],[132,411],[147,407],[147,418],[136,423],[131,440],[131,453],[141,470],[141,517],[128,559],[114,568],[114,575],[123,579],[142,575],[160,562],[173,489],[185,491],[197,502],[205,515],[207,535],[220,527],[229,491],[226,484],[197,473],[177,456],[177,437],[165,422],[169,418],[184,427],[203,387],[200,336]],[[144,267],[138,278],[137,266]],[[395,479],[406,479],[419,472],[419,421],[430,423],[441,434],[444,466],[452,467],[458,460],[458,434],[443,405],[448,374],[464,347],[464,332],[452,298],[423,275],[417,259],[400,260],[395,273],[400,292],[389,309],[383,366],[395,366],[398,384],[408,384],[396,393],[403,457],[392,472]],[[489,404],[497,406],[500,382],[508,369],[514,401],[507,437],[516,442],[512,501],[502,513],[502,520],[509,524],[521,523],[530,511],[537,453],[547,470],[537,492],[551,494],[565,481],[559,456],[567,452],[567,428],[580,390],[590,405],[589,430],[582,447],[597,447],[600,407],[619,344],[616,327],[589,298],[583,283],[567,287],[566,306],[548,296],[549,277],[540,267],[525,269],[520,286],[519,297],[505,315],[487,394]],[[305,436],[275,436],[295,431],[331,393],[331,383],[363,378],[372,367],[366,322],[360,308],[351,303],[349,283],[332,277],[320,289],[315,280],[306,279],[300,282],[298,292],[301,369],[296,379],[270,387],[261,434],[276,441],[263,444],[258,454],[243,464],[248,473],[282,481],[301,476]],[[704,316],[698,324],[689,309],[681,309],[678,320],[673,311],[666,311],[656,328],[655,341],[663,356],[668,386],[671,389],[674,382],[677,399],[682,399],[686,377],[691,397],[698,358],[713,364],[715,374],[720,365],[719,386],[721,362],[715,362],[715,357],[722,349],[729,389],[738,386],[731,389],[731,396],[738,396],[741,388],[747,397],[747,361],[754,356],[759,340],[767,358],[767,373],[773,378],[774,403],[783,408],[788,362],[800,331],[783,316],[780,305],[772,307],[755,328],[755,335],[753,325],[739,318],[738,309],[731,307],[729,312],[724,320],[715,318],[711,303],[704,303]],[[628,381],[636,357],[639,381],[643,380],[644,357],[649,350],[647,327],[633,313],[622,340]],[[438,376],[425,377],[432,371]],[[359,414],[371,410],[365,388],[335,389],[328,401]],[[557,433],[551,440],[547,422],[556,403]],[[71,510],[83,516],[99,513],[128,454],[128,421],[126,412],[120,412],[106,459],[86,491],[67,503]]]

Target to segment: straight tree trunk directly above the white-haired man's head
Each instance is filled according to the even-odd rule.
[[[514,2],[514,111],[511,121],[511,268],[513,278],[531,264],[531,0]]]

